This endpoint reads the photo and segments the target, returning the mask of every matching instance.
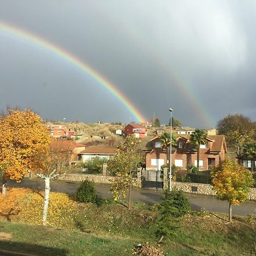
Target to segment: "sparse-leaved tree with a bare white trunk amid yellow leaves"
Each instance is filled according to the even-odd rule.
[[[53,143],[51,144],[53,145]],[[58,144],[58,147],[51,146],[48,148],[47,154],[41,155],[41,166],[38,170],[38,176],[45,182],[44,188],[44,209],[43,209],[43,225],[46,225],[47,212],[49,205],[50,181],[57,179],[60,175],[67,172],[65,166],[69,163],[68,158],[70,151]]]

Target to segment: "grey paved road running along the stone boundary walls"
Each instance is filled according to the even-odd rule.
[[[54,180],[51,183],[51,191],[74,194],[79,187],[79,182]],[[9,181],[9,187],[26,187],[38,190],[44,190],[44,181],[42,179],[27,179],[24,178],[21,183]],[[110,198],[110,186],[107,184],[96,184],[96,191],[98,196]],[[152,189],[133,189],[133,200],[140,201],[147,204],[158,203],[163,198],[163,191]],[[217,200],[214,196],[191,195],[186,194],[191,203],[191,208],[200,210],[204,208],[209,212],[228,213],[229,204],[226,201]],[[249,214],[256,214],[256,202],[247,201],[241,205],[234,205],[232,207],[233,214],[247,216]]]

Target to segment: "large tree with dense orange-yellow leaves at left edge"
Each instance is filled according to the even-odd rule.
[[[0,134],[2,194],[6,195],[7,178],[20,181],[28,170],[36,170],[38,156],[47,152],[51,138],[39,115],[29,109],[7,109],[0,117]]]

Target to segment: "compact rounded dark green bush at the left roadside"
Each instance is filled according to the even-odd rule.
[[[96,203],[98,201],[94,184],[89,180],[82,181],[76,191],[76,198],[82,203]]]

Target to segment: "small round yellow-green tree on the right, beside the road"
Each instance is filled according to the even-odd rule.
[[[212,184],[218,199],[229,201],[229,221],[232,222],[232,205],[248,200],[250,187],[254,185],[253,175],[228,158],[213,171]]]

